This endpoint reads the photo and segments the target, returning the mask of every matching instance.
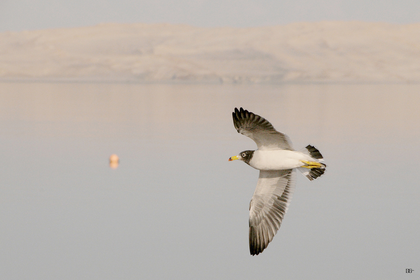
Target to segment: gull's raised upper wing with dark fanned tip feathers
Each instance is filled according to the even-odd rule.
[[[274,129],[268,120],[242,108],[235,108],[232,116],[236,130],[254,140],[259,150],[293,150],[289,136]]]

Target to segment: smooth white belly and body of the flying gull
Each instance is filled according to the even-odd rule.
[[[288,150],[256,150],[250,165],[258,170],[284,170],[305,165],[300,160],[311,160],[311,157],[297,151]]]

